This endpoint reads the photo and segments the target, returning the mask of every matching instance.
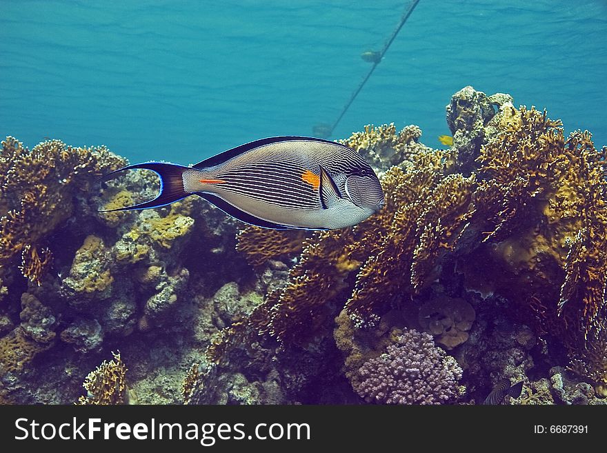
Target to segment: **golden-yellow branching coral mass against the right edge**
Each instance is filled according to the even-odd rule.
[[[504,285],[531,303],[539,330],[564,339],[572,368],[607,383],[607,148],[587,131],[565,139],[545,111],[511,108],[500,121],[475,192],[485,240],[501,241],[489,259],[518,276]]]

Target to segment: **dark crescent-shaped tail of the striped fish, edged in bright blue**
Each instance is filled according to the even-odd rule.
[[[99,210],[99,212],[112,212],[112,211],[130,211],[135,209],[148,209],[158,208],[159,206],[168,205],[175,201],[181,200],[191,192],[186,191],[183,185],[183,173],[192,170],[190,167],[184,167],[183,165],[175,165],[175,163],[161,163],[161,162],[146,162],[136,163],[135,165],[128,165],[127,167],[120,168],[110,174],[99,179],[98,182],[108,181],[116,177],[116,174],[125,170],[152,170],[160,177],[160,193],[158,196],[145,203],[139,203],[137,205],[125,206],[124,208]]]

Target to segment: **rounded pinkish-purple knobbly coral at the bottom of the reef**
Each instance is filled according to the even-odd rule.
[[[372,403],[444,404],[461,394],[455,359],[417,330],[406,330],[385,354],[366,361],[359,375],[355,390]]]

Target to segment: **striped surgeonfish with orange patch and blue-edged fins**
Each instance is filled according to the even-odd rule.
[[[356,225],[384,205],[372,168],[352,148],[312,137],[270,137],[221,152],[191,167],[147,162],[158,196],[106,210],[157,208],[196,194],[240,221],[264,228],[331,230]]]

